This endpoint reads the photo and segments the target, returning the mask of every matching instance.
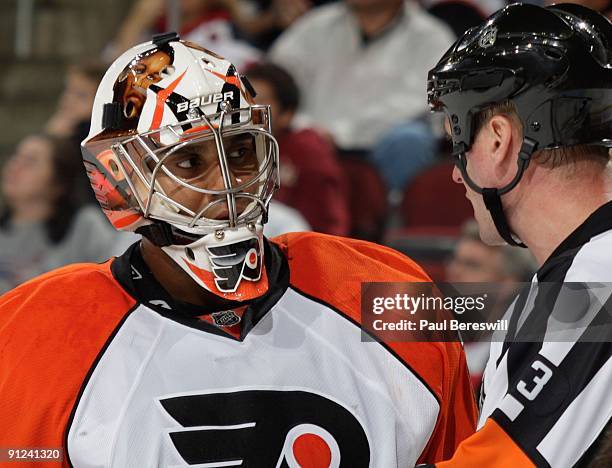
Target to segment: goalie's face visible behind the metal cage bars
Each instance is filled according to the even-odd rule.
[[[231,209],[228,203],[232,201],[219,192],[227,191],[228,187],[244,187],[240,191],[242,194],[256,195],[261,188],[260,182],[254,180],[260,161],[255,137],[250,133],[225,137],[223,146],[224,161],[219,158],[214,140],[192,143],[172,152],[163,163],[166,170],[158,171],[159,187],[167,197],[203,218],[227,220]],[[151,163],[148,169],[154,170]],[[195,191],[177,183],[176,179],[212,193]],[[238,195],[234,203],[236,215],[240,216],[253,202],[247,196]]]

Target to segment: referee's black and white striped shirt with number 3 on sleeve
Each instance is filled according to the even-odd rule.
[[[612,202],[557,247],[507,315],[479,429],[493,420],[538,467],[584,466],[612,416]]]

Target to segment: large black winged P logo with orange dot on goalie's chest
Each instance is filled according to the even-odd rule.
[[[361,468],[370,464],[366,433],[353,413],[322,395],[245,390],[160,400],[183,429],[171,429],[189,465]]]

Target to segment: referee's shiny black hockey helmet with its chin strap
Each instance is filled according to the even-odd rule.
[[[612,147],[612,23],[579,5],[542,8],[513,4],[469,29],[429,72],[434,111],[451,124],[453,154],[466,183],[485,199],[502,237],[516,242],[500,195],[520,181],[532,154],[578,144]],[[514,180],[500,189],[478,187],[465,170],[475,118],[510,101],[524,140]]]

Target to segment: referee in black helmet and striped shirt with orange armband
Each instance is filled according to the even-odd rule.
[[[510,5],[442,57],[428,98],[483,241],[540,265],[492,343],[478,432],[436,466],[612,466],[612,24]]]

